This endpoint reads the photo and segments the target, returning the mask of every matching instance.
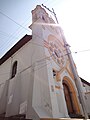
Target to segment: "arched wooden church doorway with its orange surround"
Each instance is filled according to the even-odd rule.
[[[76,94],[75,86],[68,77],[63,79],[63,90],[65,101],[67,105],[68,114],[81,114],[78,96]]]

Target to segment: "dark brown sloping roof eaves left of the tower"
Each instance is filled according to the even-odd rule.
[[[25,35],[20,39],[1,59],[0,65],[3,64],[9,57],[11,57],[16,51],[24,46],[28,41],[32,39],[32,35]]]

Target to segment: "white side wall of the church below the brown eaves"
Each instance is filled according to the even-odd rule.
[[[32,49],[32,44],[28,42],[25,44],[21,49],[19,49],[15,54],[13,54],[8,60],[6,60],[1,66],[0,66],[0,105],[3,103],[6,104],[6,102],[11,102],[7,105],[7,111],[6,116],[8,115],[15,115],[19,113],[19,111],[14,111],[17,107],[16,105],[16,99],[18,101],[18,104],[21,104],[23,102],[27,102],[27,96],[28,96],[28,85],[29,85],[29,80],[30,80],[30,68],[32,64],[32,54],[33,54],[33,49]],[[27,57],[28,56],[28,57]],[[13,63],[17,61],[17,74],[13,79],[10,79],[11,77],[11,70],[12,70],[12,65]],[[19,76],[19,77],[18,77]],[[9,81],[10,79],[10,81]],[[17,81],[18,80],[18,81]],[[2,83],[6,83],[5,81],[9,82],[9,87],[6,90],[6,87],[2,87]],[[18,83],[19,82],[19,83]],[[3,90],[2,90],[3,89]],[[5,91],[5,90],[7,91]],[[18,89],[16,92],[15,90]],[[7,96],[2,97],[3,94],[8,94]],[[14,96],[14,97],[13,97]],[[19,97],[20,96],[20,97]],[[18,98],[19,97],[19,98]],[[10,100],[12,99],[12,100]],[[5,112],[6,107],[0,107],[1,113]],[[19,110],[19,105],[17,110]]]

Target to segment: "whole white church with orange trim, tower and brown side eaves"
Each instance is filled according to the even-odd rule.
[[[0,114],[33,120],[84,116],[62,29],[39,5],[30,28],[32,36],[25,35],[0,59]],[[80,83],[90,114],[90,83]]]

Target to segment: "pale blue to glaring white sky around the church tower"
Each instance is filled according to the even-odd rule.
[[[78,73],[90,82],[90,0],[0,0],[0,56],[25,34],[31,34],[31,10],[41,4],[54,8],[72,52],[77,51],[73,58]]]

